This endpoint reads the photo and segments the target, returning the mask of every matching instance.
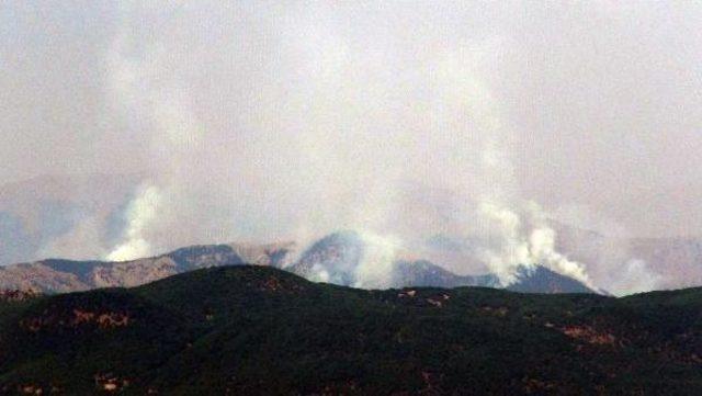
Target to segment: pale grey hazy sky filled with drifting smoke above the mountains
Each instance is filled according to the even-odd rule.
[[[145,4],[0,2],[0,183],[147,171],[170,212],[258,235],[495,184],[702,234],[699,2]]]

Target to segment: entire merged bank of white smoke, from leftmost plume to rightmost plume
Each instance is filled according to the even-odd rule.
[[[109,95],[144,132],[154,174],[106,258],[356,229],[370,246],[359,285],[382,286],[398,247],[477,234],[505,284],[519,264],[590,284],[555,250],[541,208],[520,197],[510,158],[520,132],[503,125],[483,78],[498,38],[417,37],[417,54],[397,45],[401,32],[377,24],[369,38],[320,5],[324,18],[236,10],[245,18],[203,44],[192,36],[211,32],[178,20],[191,8],[122,10]],[[141,20],[157,26],[146,39]]]

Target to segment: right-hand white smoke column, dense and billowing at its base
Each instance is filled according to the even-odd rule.
[[[446,66],[445,76],[461,72],[453,60]],[[520,196],[506,148],[509,146],[509,133],[518,132],[505,131],[497,103],[485,84],[471,73],[464,79],[464,84],[446,86],[452,89],[462,87],[458,93],[453,92],[465,100],[466,105],[460,111],[474,121],[473,127],[478,134],[486,136],[479,147],[477,173],[482,184],[474,202],[474,213],[482,224],[479,231],[491,234],[494,244],[479,249],[480,259],[506,286],[514,282],[520,265],[545,265],[597,288],[584,264],[556,250],[556,231],[548,226],[543,208]]]

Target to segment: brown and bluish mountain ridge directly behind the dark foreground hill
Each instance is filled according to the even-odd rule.
[[[0,267],[0,290],[66,293],[131,287],[202,268],[241,264],[274,267],[312,281],[367,288],[503,287],[494,274],[457,275],[427,260],[364,263],[367,249],[359,234],[343,231],[321,238],[296,260],[296,246],[292,242],[192,246],[125,262],[49,259]],[[376,267],[385,272],[375,274],[376,283],[364,283],[364,270],[375,273]],[[506,288],[526,293],[593,293],[582,283],[540,265],[519,268],[517,281]]]

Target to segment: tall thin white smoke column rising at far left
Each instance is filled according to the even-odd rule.
[[[173,3],[167,11],[180,5]],[[121,3],[121,23],[110,48],[107,97],[122,112],[128,126],[147,131],[145,144],[150,147],[151,173],[136,191],[125,213],[123,240],[106,254],[107,260],[131,260],[163,249],[154,246],[159,234],[177,241],[179,205],[189,201],[182,194],[185,158],[197,151],[202,131],[191,111],[189,95],[180,82],[169,80],[163,66],[167,49],[159,39],[140,42],[139,15],[160,14],[136,2]],[[159,19],[156,19],[157,21]],[[161,237],[162,238],[162,237]]]

